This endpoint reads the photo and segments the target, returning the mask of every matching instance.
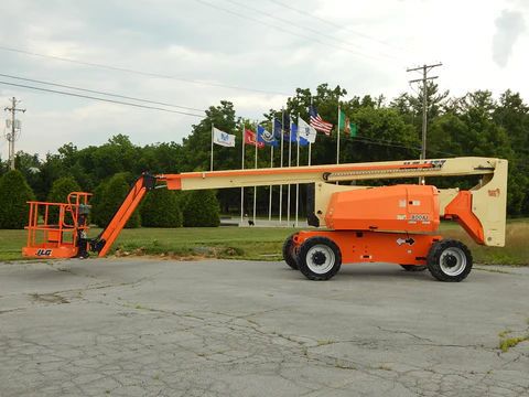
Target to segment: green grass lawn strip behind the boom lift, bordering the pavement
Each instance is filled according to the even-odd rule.
[[[90,236],[98,232],[91,229]],[[294,232],[293,228],[282,227],[125,229],[114,246],[114,254],[280,260],[283,240]],[[505,248],[478,246],[455,224],[444,223],[441,234],[468,245],[475,262],[529,265],[528,219],[511,221],[507,224]],[[20,251],[24,245],[25,230],[0,230],[0,260],[22,259]]]

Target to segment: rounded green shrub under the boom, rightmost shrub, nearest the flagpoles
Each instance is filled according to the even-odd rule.
[[[217,227],[220,225],[219,205],[214,191],[187,193],[184,205],[185,227]]]

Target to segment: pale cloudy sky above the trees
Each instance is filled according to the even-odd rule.
[[[529,0],[17,0],[2,2],[0,26],[0,105],[21,100],[15,150],[41,157],[117,133],[141,146],[181,142],[220,100],[258,120],[296,87],[323,83],[347,89],[345,100],[390,100],[412,93],[421,75],[407,68],[423,64],[443,64],[431,75],[454,96],[529,98]]]

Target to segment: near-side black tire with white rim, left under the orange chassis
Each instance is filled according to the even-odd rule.
[[[314,247],[320,246],[322,249],[317,250],[312,249]],[[331,249],[332,255],[334,255],[334,259],[328,256],[328,249]],[[325,253],[327,250],[327,253]],[[320,260],[330,260],[327,265],[328,270],[323,272],[316,272],[311,267],[319,266],[314,264],[314,255],[319,255]],[[311,257],[310,257],[311,256]],[[309,261],[309,262],[307,262]],[[322,264],[323,265],[323,264]],[[342,253],[339,251],[338,246],[327,237],[311,237],[307,238],[300,247],[298,253],[298,266],[300,271],[309,280],[314,281],[324,281],[333,278],[342,266]]]

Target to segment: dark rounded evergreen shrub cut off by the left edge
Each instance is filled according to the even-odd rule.
[[[0,228],[18,229],[28,224],[28,201],[33,191],[20,171],[9,171],[0,179]]]

